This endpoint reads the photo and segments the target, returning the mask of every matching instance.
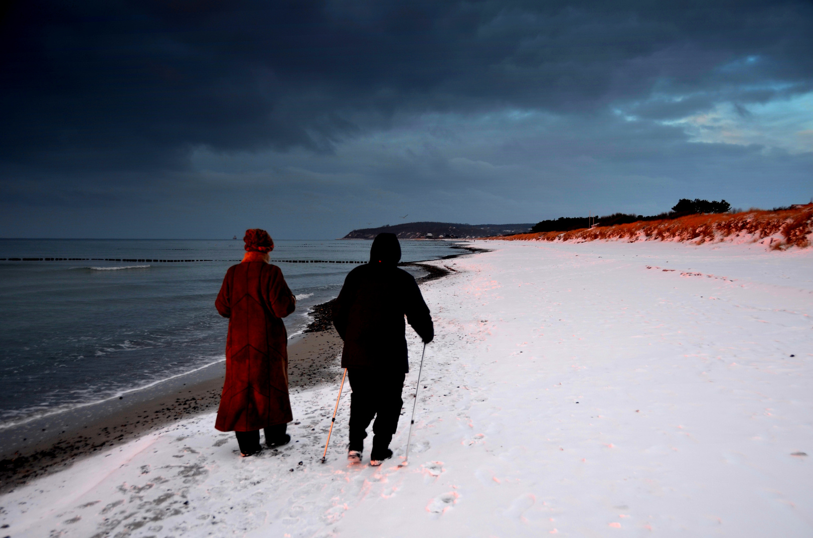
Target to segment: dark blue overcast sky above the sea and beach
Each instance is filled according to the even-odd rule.
[[[813,197],[813,2],[11,2],[0,236]]]

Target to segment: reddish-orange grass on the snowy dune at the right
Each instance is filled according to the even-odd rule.
[[[491,237],[508,241],[764,241],[772,249],[811,245],[813,203],[786,210],[750,210],[743,213],[688,215],[678,219],[639,221],[570,232],[521,233]]]

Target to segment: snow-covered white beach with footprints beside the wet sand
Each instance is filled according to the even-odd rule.
[[[489,248],[423,286],[408,466],[411,330],[384,466],[344,460],[349,386],[319,463],[310,388],[280,451],[186,419],[0,497],[0,536],[813,536],[813,249]]]

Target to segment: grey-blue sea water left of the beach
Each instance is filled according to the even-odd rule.
[[[276,241],[275,260],[365,261],[371,241]],[[459,251],[401,241],[402,261]],[[228,320],[215,297],[242,241],[0,240],[0,258],[210,262],[0,261],[0,427],[100,401],[223,360]],[[336,297],[351,263],[277,262],[298,297],[285,319]]]

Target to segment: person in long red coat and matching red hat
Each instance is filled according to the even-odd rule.
[[[226,271],[215,308],[228,318],[226,380],[215,428],[235,432],[243,456],[258,453],[259,431],[273,448],[285,445],[293,420],[288,397],[288,334],[282,318],[296,298],[282,271],[268,263],[274,241],[259,228],[246,230],[246,255]]]

